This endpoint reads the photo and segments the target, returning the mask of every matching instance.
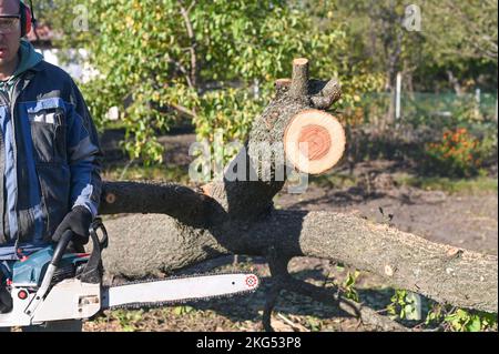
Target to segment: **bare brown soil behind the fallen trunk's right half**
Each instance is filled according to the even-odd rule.
[[[441,191],[393,188],[369,196],[309,185],[305,195],[279,194],[282,209],[354,213],[437,243],[497,255],[498,195],[452,195]]]

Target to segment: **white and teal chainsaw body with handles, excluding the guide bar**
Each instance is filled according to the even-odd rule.
[[[98,229],[103,230],[103,241],[96,235]],[[10,272],[3,274],[0,284],[4,302],[0,327],[90,318],[99,313],[102,307],[100,253],[108,245],[100,220],[92,224],[91,237],[92,254],[64,254],[71,240],[71,234],[67,233],[57,246],[49,245],[24,254],[20,260],[9,261]]]

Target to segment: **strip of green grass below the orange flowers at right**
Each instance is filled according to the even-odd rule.
[[[498,192],[497,178],[477,176],[473,179],[449,179],[438,176],[415,176],[396,174],[399,185],[415,186],[426,191],[444,191],[450,194],[477,194]]]

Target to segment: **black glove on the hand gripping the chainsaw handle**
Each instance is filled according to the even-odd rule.
[[[92,213],[86,208],[77,205],[62,220],[52,236],[52,241],[55,243],[59,242],[59,240],[61,240],[62,237],[62,234],[65,231],[71,230],[74,233],[72,243],[74,243],[75,245],[84,245],[89,243],[89,229],[92,224]]]

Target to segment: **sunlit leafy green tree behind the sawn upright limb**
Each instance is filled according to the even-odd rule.
[[[55,2],[62,0],[54,0]],[[63,1],[67,10],[77,2]],[[89,31],[74,32],[61,17],[64,45],[83,45],[100,75],[84,85],[92,112],[105,120],[118,105],[132,158],[161,161],[157,131],[190,118],[200,139],[243,140],[272,94],[289,77],[293,58],[314,61],[314,75],[339,77],[344,104],[377,85],[352,65],[344,26],[319,28],[284,0],[84,0]],[[71,13],[71,11],[70,11]],[[54,20],[55,21],[55,20]]]

